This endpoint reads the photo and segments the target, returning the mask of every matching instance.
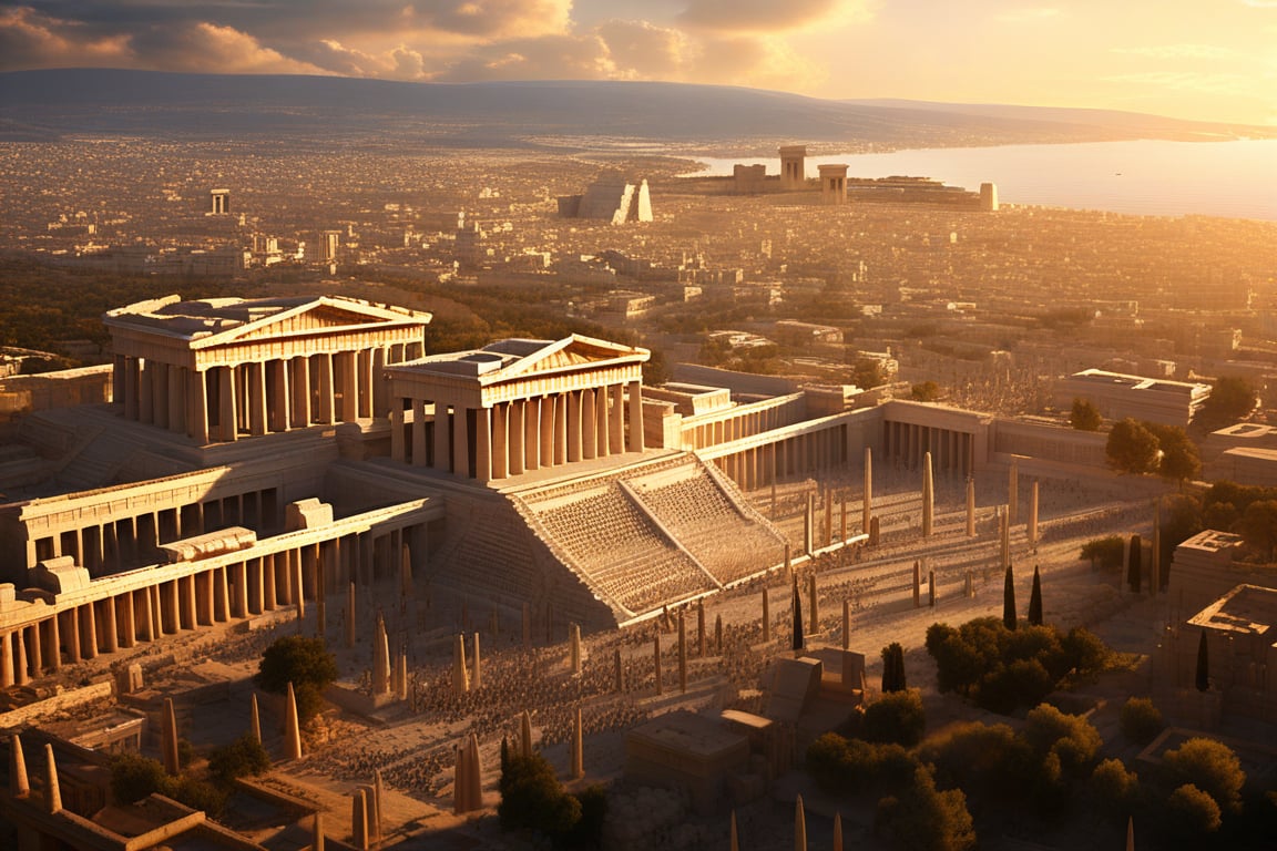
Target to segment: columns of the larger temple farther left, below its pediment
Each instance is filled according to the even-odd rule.
[[[384,415],[384,367],[419,357],[420,343],[190,369],[116,355],[115,401],[124,416],[199,444],[240,435]]]

